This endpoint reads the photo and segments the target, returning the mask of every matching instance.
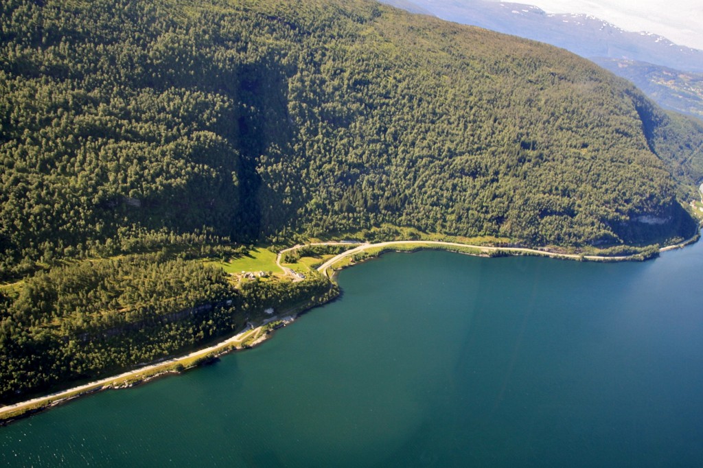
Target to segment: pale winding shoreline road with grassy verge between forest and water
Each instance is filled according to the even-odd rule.
[[[683,242],[680,242],[676,245],[670,245],[667,247],[662,247],[659,249],[658,252],[666,252],[672,249],[680,249],[683,248],[687,245],[690,245],[692,243],[697,242],[699,240],[700,234],[697,233],[695,236],[692,238],[685,240]],[[415,250],[420,250],[420,249],[432,249],[436,247],[440,247],[442,249],[446,249],[450,252],[457,252],[457,253],[463,253],[463,254],[473,254],[473,255],[491,255],[491,254],[496,254],[496,252],[499,252],[501,254],[505,254],[507,256],[509,255],[537,255],[537,256],[547,256],[550,258],[556,258],[556,259],[569,259],[569,260],[588,260],[588,261],[628,261],[628,260],[642,260],[640,254],[633,254],[633,255],[626,255],[626,256],[598,256],[598,255],[583,255],[583,254],[566,254],[566,253],[561,253],[561,252],[550,252],[548,250],[540,250],[540,249],[530,249],[527,247],[491,247],[491,246],[482,246],[482,245],[470,245],[470,244],[463,244],[461,242],[446,242],[446,241],[439,241],[439,240],[394,240],[394,241],[388,241],[388,242],[377,242],[377,243],[360,243],[360,242],[339,242],[339,241],[333,241],[333,242],[313,242],[310,244],[305,244],[305,245],[295,245],[293,247],[289,247],[287,249],[283,249],[280,252],[278,252],[278,256],[276,258],[276,264],[281,268],[281,270],[286,274],[286,275],[293,275],[293,273],[290,268],[285,268],[283,265],[280,264],[280,258],[281,254],[284,252],[289,252],[295,249],[299,249],[301,247],[304,247],[306,245],[356,245],[356,247],[349,249],[345,252],[342,252],[341,254],[337,254],[333,256],[333,258],[328,259],[325,261],[321,266],[318,266],[316,268],[316,271],[319,273],[328,276],[328,278],[333,278],[334,271],[341,269],[341,268],[333,268],[337,262],[342,261],[343,259],[346,259],[349,256],[353,256],[354,254],[360,254],[362,252],[367,252],[370,249],[380,249],[378,252],[375,252],[375,255],[380,255],[384,252],[392,251],[394,250],[394,246],[404,246],[408,247],[411,246],[413,248],[411,249],[406,249],[405,252],[413,252]],[[471,249],[474,250],[475,252],[461,252],[460,249]],[[333,273],[329,273],[330,269],[333,270]],[[185,356],[178,356],[174,358],[169,358],[167,360],[162,360],[157,363],[151,363],[148,364],[142,368],[138,368],[135,370],[130,370],[127,372],[122,372],[120,375],[115,375],[112,377],[105,377],[103,379],[98,379],[93,382],[89,382],[87,384],[82,384],[79,386],[72,387],[71,389],[66,389],[62,391],[57,391],[53,394],[49,394],[46,396],[39,396],[37,398],[32,398],[27,401],[22,401],[19,403],[14,403],[12,405],[6,405],[0,407],[0,424],[8,424],[9,422],[12,422],[13,420],[20,419],[22,417],[26,417],[29,415],[33,415],[36,412],[40,412],[42,410],[46,410],[48,408],[51,408],[55,405],[59,405],[61,403],[65,403],[67,401],[70,401],[74,398],[78,398],[79,396],[84,396],[87,394],[93,394],[96,391],[103,391],[103,390],[108,390],[108,389],[124,389],[128,388],[130,386],[134,386],[136,384],[141,384],[143,382],[148,382],[151,379],[155,379],[157,377],[160,377],[162,375],[168,375],[168,374],[179,374],[183,372],[184,370],[188,370],[191,368],[195,368],[198,365],[202,365],[203,363],[209,363],[212,362],[212,360],[217,359],[219,356],[222,356],[226,353],[229,353],[231,351],[237,351],[240,349],[247,349],[251,348],[252,346],[257,346],[258,344],[261,344],[264,342],[266,339],[271,337],[271,334],[269,333],[270,330],[265,330],[264,327],[266,327],[267,324],[276,321],[279,322],[281,325],[280,326],[285,326],[288,325],[289,323],[292,323],[299,315],[302,313],[305,313],[308,311],[310,308],[313,308],[314,306],[321,305],[321,304],[307,304],[306,306],[303,306],[302,308],[299,309],[299,311],[292,313],[292,315],[283,317],[283,318],[278,318],[277,316],[271,317],[267,320],[264,320],[263,323],[259,324],[258,326],[254,327],[251,323],[247,323],[247,327],[245,327],[244,330],[240,331],[238,334],[234,335],[233,337],[229,337],[228,339],[225,339],[222,342],[219,342],[217,344],[214,344],[212,346],[208,346],[207,348],[204,349],[199,349],[196,351],[193,351],[191,353],[186,354]],[[275,327],[278,328],[278,327]],[[275,329],[274,328],[274,329]],[[245,344],[246,343],[246,344]]]

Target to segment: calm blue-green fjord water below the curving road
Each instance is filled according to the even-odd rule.
[[[8,466],[692,466],[703,244],[387,254],[257,349],[0,428]]]

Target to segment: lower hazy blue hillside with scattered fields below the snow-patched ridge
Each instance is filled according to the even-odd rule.
[[[659,105],[703,118],[703,73],[618,58],[593,58],[601,67],[629,79]]]

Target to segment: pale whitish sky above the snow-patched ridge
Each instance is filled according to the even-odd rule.
[[[588,13],[626,31],[654,32],[703,49],[703,0],[508,0],[548,13]]]

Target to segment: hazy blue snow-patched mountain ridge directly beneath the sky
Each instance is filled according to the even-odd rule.
[[[591,15],[550,14],[536,6],[489,0],[382,0],[382,3],[406,10],[420,8],[443,20],[546,42],[586,58],[622,58],[703,72],[703,51],[673,44],[657,34],[627,32]]]

